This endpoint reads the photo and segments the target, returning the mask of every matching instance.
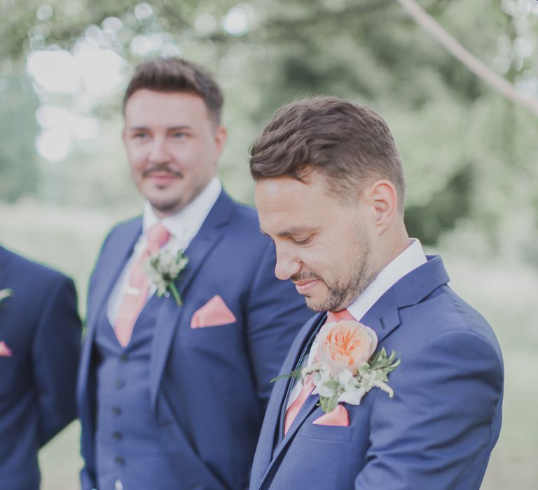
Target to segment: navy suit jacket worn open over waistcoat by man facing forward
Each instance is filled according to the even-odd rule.
[[[142,232],[136,218],[113,229],[88,296],[88,336],[78,380],[85,469],[95,486],[95,332],[99,314]],[[247,488],[263,411],[289,345],[312,314],[291,283],[275,279],[275,248],[256,211],[221,193],[185,251],[177,287],[183,304],[162,297],[151,347],[151,409],[180,487]],[[237,320],[191,328],[195,311],[220,295]]]

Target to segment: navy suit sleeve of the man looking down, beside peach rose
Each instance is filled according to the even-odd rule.
[[[355,489],[478,489],[500,424],[499,352],[470,332],[450,332],[402,358],[390,383],[394,398],[376,393]]]

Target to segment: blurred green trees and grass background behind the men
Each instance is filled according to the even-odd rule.
[[[536,0],[419,3],[485,64],[537,95]],[[249,145],[278,106],[324,93],[380,112],[406,168],[411,235],[443,253],[453,287],[488,318],[504,351],[504,426],[483,489],[533,488],[535,116],[448,55],[394,0],[0,0],[0,6],[0,241],[74,276],[81,314],[106,230],[141,209],[120,142],[122,90],[140,59],[180,55],[216,73],[230,132],[220,174],[243,202],[252,200]],[[66,82],[73,74],[51,63],[39,75],[34,64],[43,52],[71,60],[92,52],[116,64],[78,66],[83,75],[58,90],[43,79]],[[66,151],[51,153],[51,134],[60,138],[52,150],[62,142]],[[76,423],[41,460],[43,488],[78,487]]]

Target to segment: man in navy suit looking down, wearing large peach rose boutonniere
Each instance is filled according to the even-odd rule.
[[[251,490],[478,489],[501,426],[501,351],[441,258],[408,237],[385,121],[333,97],[289,104],[250,166],[276,274],[319,312],[282,367],[303,375],[269,400]],[[382,349],[395,353],[384,365]]]

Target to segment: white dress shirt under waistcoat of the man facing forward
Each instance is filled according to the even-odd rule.
[[[179,250],[185,250],[191,243],[192,239],[200,230],[200,227],[207,218],[216,200],[219,198],[222,186],[217,177],[214,177],[206,188],[195,197],[195,199],[187,204],[173,216],[167,216],[162,220],[155,215],[153,208],[149,202],[144,205],[144,216],[142,216],[142,235],[140,235],[135,249],[125,264],[123,271],[118,277],[116,286],[114,286],[109,297],[109,304],[106,310],[106,315],[109,318],[110,324],[116,323],[116,318],[120,309],[120,303],[125,295],[125,290],[128,286],[130,269],[139,255],[146,248],[148,240],[148,231],[156,223],[162,223],[170,232],[170,240],[167,241],[163,250],[170,250],[172,253],[177,253]],[[156,286],[150,285],[148,299],[155,293]]]

